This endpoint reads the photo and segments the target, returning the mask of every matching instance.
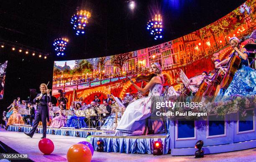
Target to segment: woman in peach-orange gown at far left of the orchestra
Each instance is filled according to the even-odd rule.
[[[13,110],[13,114],[11,114],[8,119],[7,127],[12,124],[25,124],[23,117],[18,113],[18,109],[20,108],[16,105],[9,110],[9,112]]]

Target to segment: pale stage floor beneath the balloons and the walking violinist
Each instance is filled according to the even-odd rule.
[[[8,145],[20,154],[28,154],[29,158],[35,162],[65,162],[67,161],[67,151],[69,147],[84,138],[70,137],[47,134],[47,138],[54,142],[54,152],[50,155],[44,155],[38,149],[38,142],[42,134],[35,134],[33,138],[26,136],[23,132],[10,132],[0,129],[0,141]],[[161,156],[154,156],[153,154],[125,154],[114,152],[94,152],[92,162],[131,162],[131,161],[157,161],[157,162],[182,162],[182,161],[218,161],[218,162],[237,162],[250,161],[256,162],[256,148],[247,149],[243,151],[227,152],[221,154],[207,154],[204,158],[195,159],[194,156],[171,156],[165,154]]]

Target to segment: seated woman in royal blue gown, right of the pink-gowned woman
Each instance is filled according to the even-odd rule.
[[[74,128],[87,127],[86,123],[84,122],[85,117],[84,116],[79,116],[79,117],[76,116],[76,113],[78,111],[82,111],[81,109],[82,109],[81,104],[77,103],[77,106],[74,109],[72,109],[74,116],[72,116],[69,119],[69,121],[67,123],[67,127],[74,127]]]

